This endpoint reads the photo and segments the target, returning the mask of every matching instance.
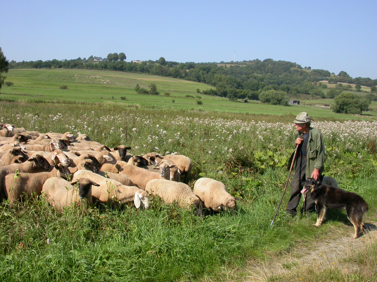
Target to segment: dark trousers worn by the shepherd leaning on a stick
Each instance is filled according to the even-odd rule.
[[[306,170],[306,157],[300,156],[297,159],[296,172],[293,175],[291,182],[291,197],[288,201],[287,209],[285,210],[288,214],[296,214],[297,206],[299,205],[301,199],[301,183],[307,179],[305,176]],[[310,176],[308,176],[310,177]],[[302,211],[313,211],[315,209],[314,200],[311,198],[310,193],[306,192],[306,201],[303,203]]]

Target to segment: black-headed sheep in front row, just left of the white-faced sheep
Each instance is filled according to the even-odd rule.
[[[73,186],[76,183],[78,183],[78,188]],[[80,205],[82,202],[86,203],[86,205],[92,205],[92,185],[100,186],[84,177],[72,183],[60,177],[51,177],[44,182],[42,194],[44,194],[51,206],[62,212],[63,208]]]

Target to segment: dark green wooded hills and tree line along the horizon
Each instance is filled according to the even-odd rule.
[[[165,58],[161,57],[155,61],[136,63],[124,61],[126,59],[124,53],[110,53],[107,56],[107,61],[103,62],[95,62],[94,58],[90,56],[88,59],[77,58],[63,61],[57,59],[29,62],[11,61],[9,68],[77,68],[153,74],[207,83],[214,86],[215,89],[203,91],[204,94],[227,97],[230,100],[260,100],[262,92],[264,92],[262,95],[264,99],[270,97],[271,93],[275,93],[279,97],[285,95],[277,101],[280,104],[284,103],[288,96],[294,97],[301,94],[309,94],[313,98],[327,98],[328,95],[325,95],[322,91],[327,88],[327,85],[321,83],[321,80],[328,80],[330,83],[357,83],[371,87],[372,91],[372,88],[377,85],[377,79],[362,77],[352,79],[345,71],[341,71],[338,76],[335,76],[334,73],[331,74],[327,70],[311,70],[311,67],[302,68],[295,62],[274,61],[273,59],[220,63],[179,63],[166,61]],[[271,92],[271,90],[273,91]],[[334,98],[337,94],[339,93],[331,92],[329,95]],[[272,100],[275,101],[276,99]]]

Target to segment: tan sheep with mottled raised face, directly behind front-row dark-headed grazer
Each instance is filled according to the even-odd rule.
[[[135,165],[125,165],[122,167],[120,174],[126,174],[131,181],[140,189],[145,190],[149,180],[152,179],[167,179],[170,177],[170,170],[168,165],[162,165],[161,167],[155,167],[155,170],[159,170],[160,173],[145,170],[144,168],[136,167]]]

